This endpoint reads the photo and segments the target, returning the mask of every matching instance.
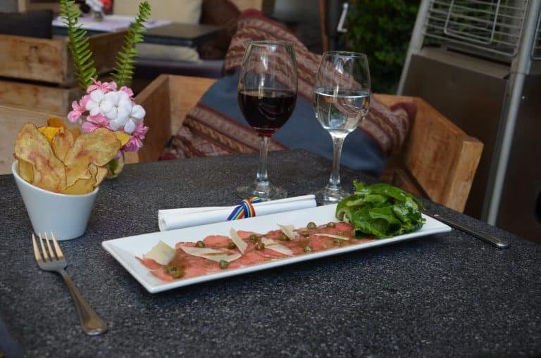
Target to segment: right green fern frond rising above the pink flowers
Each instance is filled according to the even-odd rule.
[[[118,84],[118,87],[129,86],[133,77],[135,68],[135,56],[137,49],[135,44],[143,41],[143,33],[145,30],[144,22],[149,20],[151,13],[150,4],[147,1],[139,4],[139,13],[135,22],[130,25],[130,29],[125,37],[125,42],[122,49],[116,56],[116,68],[113,70],[113,80]]]

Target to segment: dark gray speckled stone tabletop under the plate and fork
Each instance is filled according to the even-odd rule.
[[[110,326],[82,333],[66,285],[41,271],[11,175],[0,177],[0,350],[7,357],[535,356],[541,354],[541,245],[440,205],[511,242],[459,231],[150,294],[101,248],[157,231],[170,207],[231,205],[256,155],[127,165],[100,189],[85,236],[61,243],[68,273]],[[330,162],[270,154],[292,196],[323,186]],[[370,178],[343,171],[344,183]],[[54,208],[52,208],[54,210]]]

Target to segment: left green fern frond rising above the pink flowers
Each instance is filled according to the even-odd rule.
[[[75,65],[75,76],[79,79],[79,86],[82,91],[92,84],[92,78],[96,77],[96,68],[92,59],[92,51],[87,37],[87,30],[77,24],[80,11],[74,0],[60,0],[61,16],[68,27],[68,48],[73,56]]]

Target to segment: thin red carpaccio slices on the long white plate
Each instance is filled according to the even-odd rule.
[[[334,225],[332,225],[334,224]],[[256,233],[253,231],[237,231],[237,235],[247,243],[247,248],[244,254],[237,260],[229,262],[228,264],[221,264],[219,262],[206,259],[204,257],[189,255],[184,252],[180,247],[195,247],[194,242],[180,242],[175,244],[175,257],[166,265],[158,264],[158,262],[152,259],[141,259],[137,257],[145,267],[149,269],[151,274],[156,276],[162,281],[170,282],[176,279],[189,279],[190,277],[202,276],[206,274],[212,274],[223,269],[237,269],[239,267],[251,266],[254,264],[261,264],[264,262],[270,262],[273,260],[281,260],[283,258],[292,257],[291,255],[285,255],[282,252],[271,250],[270,248],[261,248],[261,238],[268,238],[280,245],[284,245],[289,248],[294,256],[297,255],[310,255],[311,252],[319,252],[325,250],[332,250],[334,248],[340,248],[345,245],[356,245],[360,243],[366,243],[373,241],[375,238],[356,238],[352,235],[353,226],[345,222],[335,222],[330,225],[323,224],[316,226],[315,229],[308,229],[302,227],[295,229],[297,234],[293,240],[284,239],[282,236],[282,230],[271,230],[265,234]],[[301,232],[306,231],[301,236]],[[256,240],[250,240],[252,235],[256,235]],[[317,235],[315,235],[317,234]],[[325,236],[329,234],[331,236]],[[334,237],[332,237],[334,236]],[[339,237],[339,238],[337,238]],[[347,238],[347,240],[344,240]],[[214,250],[220,250],[224,253],[234,254],[240,253],[238,248],[231,248],[233,241],[228,236],[211,235],[204,238],[203,243],[206,248]],[[171,272],[174,273],[171,274]]]

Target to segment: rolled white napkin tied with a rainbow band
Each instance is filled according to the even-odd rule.
[[[261,216],[315,207],[316,197],[313,195],[295,196],[293,198],[263,201],[252,205],[254,205],[256,216]],[[160,231],[167,231],[187,226],[225,222],[237,206],[185,207],[158,210],[158,226]]]

